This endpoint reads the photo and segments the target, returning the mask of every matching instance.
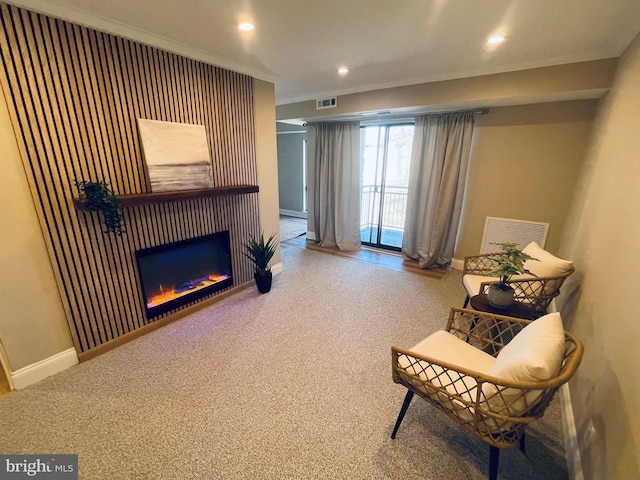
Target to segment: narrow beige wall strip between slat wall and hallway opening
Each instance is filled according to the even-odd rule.
[[[273,83],[254,79],[256,158],[260,186],[260,229],[265,237],[275,233],[280,238],[278,205],[278,153],[276,144],[276,103]],[[281,263],[280,244],[271,262]]]

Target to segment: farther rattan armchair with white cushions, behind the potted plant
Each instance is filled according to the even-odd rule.
[[[536,276],[518,275],[512,277],[509,284],[515,292],[513,299],[528,307],[531,316],[536,318],[547,312],[549,304],[560,294],[560,287],[574,268],[572,262],[551,255],[535,242],[531,242],[523,251],[538,259],[525,263],[525,267]],[[479,293],[486,294],[491,284],[498,283],[497,277],[488,274],[495,270],[495,258],[500,255],[502,253],[484,253],[465,257],[462,271],[462,284],[467,291],[465,308],[471,297]]]

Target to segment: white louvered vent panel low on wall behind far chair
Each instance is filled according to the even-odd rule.
[[[487,217],[484,223],[480,253],[499,252],[500,248],[491,245],[492,242],[514,242],[518,244],[519,248],[536,242],[544,248],[544,244],[547,242],[547,233],[549,233],[548,223]]]

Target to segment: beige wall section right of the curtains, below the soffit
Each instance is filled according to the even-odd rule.
[[[476,116],[455,258],[480,253],[485,218],[548,222],[557,252],[596,100],[492,108]]]

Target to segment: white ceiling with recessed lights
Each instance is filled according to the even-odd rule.
[[[278,104],[617,57],[640,31],[640,0],[8,3],[273,81]],[[246,20],[255,31],[236,28]]]

